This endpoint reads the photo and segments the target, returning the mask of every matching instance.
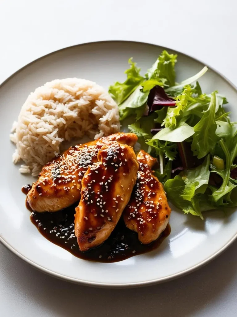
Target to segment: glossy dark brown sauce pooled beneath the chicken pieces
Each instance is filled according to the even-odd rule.
[[[81,252],[74,235],[76,206],[77,204],[74,204],[57,212],[40,213],[33,211],[30,218],[46,239],[84,260],[119,262],[131,256],[157,249],[171,231],[168,224],[159,239],[149,245],[144,245],[138,241],[135,232],[126,228],[121,218],[110,237],[101,246],[88,252]]]

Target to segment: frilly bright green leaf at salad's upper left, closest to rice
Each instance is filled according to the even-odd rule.
[[[132,57],[128,60],[130,68],[125,70],[127,79],[121,83],[116,81],[109,87],[109,93],[112,94],[113,98],[120,105],[126,100],[131,93],[144,81],[143,76],[140,75],[141,68],[136,66],[136,63],[132,61]]]

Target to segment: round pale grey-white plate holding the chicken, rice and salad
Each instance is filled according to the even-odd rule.
[[[164,48],[138,42],[96,42],[69,47],[34,61],[13,74],[0,87],[0,240],[16,255],[41,271],[68,281],[101,287],[142,286],[184,275],[209,262],[226,249],[237,236],[237,213],[220,211],[204,214],[205,220],[171,215],[171,234],[161,246],[116,263],[81,260],[46,240],[31,223],[21,186],[33,178],[21,175],[11,161],[15,146],[9,141],[12,122],[28,94],[56,78],[78,77],[108,87],[123,81],[128,58],[133,56],[144,73]],[[169,51],[172,51],[169,49]],[[178,81],[196,74],[203,64],[178,53]],[[210,69],[200,80],[207,93],[218,89],[229,100],[237,118],[237,90],[222,75]]]

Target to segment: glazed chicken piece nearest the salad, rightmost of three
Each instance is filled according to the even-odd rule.
[[[165,230],[171,209],[162,184],[151,170],[156,159],[142,150],[137,161],[137,181],[123,217],[127,228],[137,232],[139,241],[149,244]]]

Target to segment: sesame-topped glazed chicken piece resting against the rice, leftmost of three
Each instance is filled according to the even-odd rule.
[[[70,147],[47,163],[27,194],[29,206],[38,212],[58,211],[69,207],[81,197],[81,181],[88,166],[98,162],[98,151],[113,142],[134,146],[134,133],[115,133],[108,137]]]

